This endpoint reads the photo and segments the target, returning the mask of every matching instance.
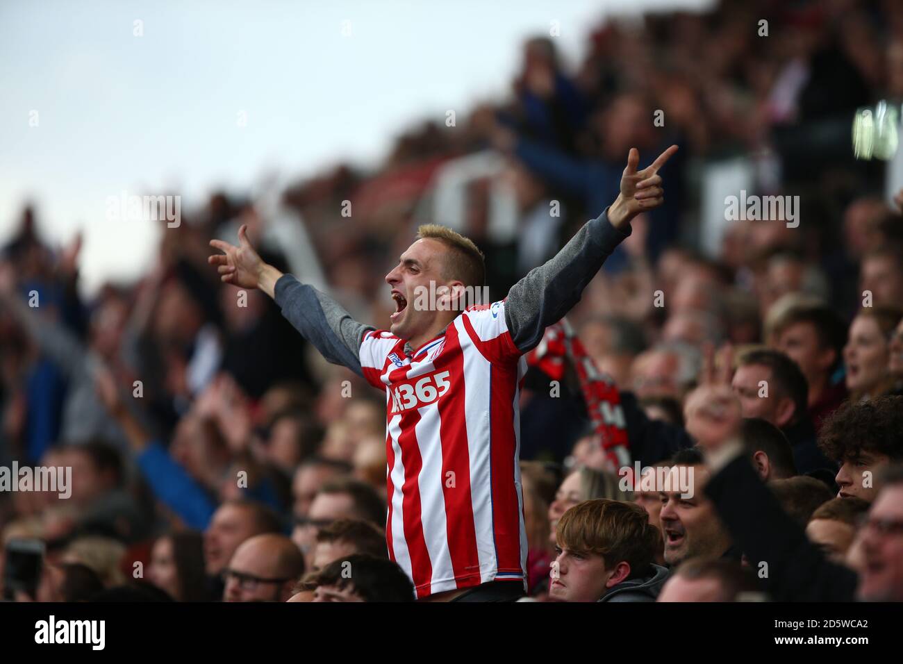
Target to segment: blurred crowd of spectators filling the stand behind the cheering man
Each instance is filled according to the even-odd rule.
[[[335,600],[350,591],[330,564],[350,555],[393,579],[361,576],[358,598],[404,596],[382,533],[385,397],[322,360],[265,295],[221,285],[209,239],[247,224],[267,262],[386,327],[383,276],[418,224],[477,242],[500,299],[614,201],[630,147],[646,165],[672,143],[665,205],[633,222],[568,316],[619,388],[638,460],[665,461],[655,441],[717,436],[717,402],[694,388],[731,386],[742,416],[792,450],[763,477],[798,481],[782,504],[801,526],[838,491],[869,503],[877,491],[851,469],[903,461],[900,397],[881,406],[903,394],[903,219],[885,164],[851,148],[855,110],[879,99],[903,101],[903,5],[726,0],[610,20],[574,66],[536,36],[495,103],[410,126],[375,172],[343,164],[278,201],[212,192],[163,228],[148,274],[89,300],[80,238],[48,246],[40,210],[22,210],[0,255],[0,465],[71,466],[73,482],[69,500],[0,494],[4,543],[44,542],[43,600],[284,601],[318,585]],[[798,227],[725,220],[740,189],[799,196]],[[535,596],[569,508],[636,500],[667,520],[657,492],[619,491],[601,470],[571,378],[551,394],[534,366],[521,403]],[[852,411],[835,415],[869,403],[884,437],[863,443]],[[851,531],[845,560],[858,521],[827,511]]]

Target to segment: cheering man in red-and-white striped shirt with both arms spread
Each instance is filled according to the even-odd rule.
[[[617,200],[493,304],[462,306],[485,279],[473,242],[442,226],[420,227],[386,275],[396,302],[387,331],[354,321],[329,296],[266,265],[244,226],[237,247],[210,241],[223,252],[209,257],[222,281],[263,290],[323,357],[385,390],[386,542],[418,598],[479,602],[524,594],[517,406],[523,356],[580,300],[630,234],[630,220],[662,204],[657,172],[676,151],[672,145],[638,171],[639,153],[631,149]],[[421,306],[424,299],[434,305]]]

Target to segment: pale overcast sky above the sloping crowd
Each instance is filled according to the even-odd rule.
[[[86,292],[133,279],[160,230],[107,219],[111,196],[191,210],[217,188],[376,166],[412,122],[503,98],[553,22],[576,63],[607,15],[709,4],[0,0],[0,244],[32,201],[52,245],[83,232]]]

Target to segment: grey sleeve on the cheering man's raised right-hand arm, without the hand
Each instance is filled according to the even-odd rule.
[[[511,286],[505,303],[505,322],[517,349],[530,351],[542,340],[545,328],[560,321],[602,263],[630,235],[611,225],[608,210],[582,229],[545,265],[535,267]]]

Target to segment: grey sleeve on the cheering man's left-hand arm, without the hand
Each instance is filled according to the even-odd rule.
[[[358,323],[329,295],[312,285],[302,284],[292,275],[279,278],[274,295],[275,303],[282,309],[286,320],[326,360],[363,376],[360,342],[365,332],[376,328]]]

